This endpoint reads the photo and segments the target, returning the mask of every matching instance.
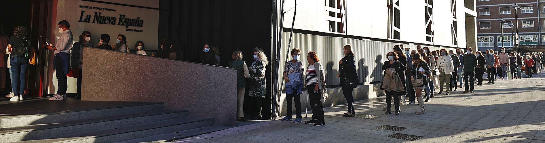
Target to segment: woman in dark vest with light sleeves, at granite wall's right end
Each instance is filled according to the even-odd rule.
[[[227,67],[237,69],[237,121],[244,117],[244,92],[246,87],[246,78],[250,77],[248,66],[242,59],[242,51],[235,50],[232,55],[233,60],[229,61]]]

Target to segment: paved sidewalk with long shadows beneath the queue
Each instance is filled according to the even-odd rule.
[[[385,100],[379,97],[355,103],[357,114],[380,116],[373,119],[343,117],[347,107],[337,105],[325,109],[325,126],[273,120],[174,142],[545,142],[543,74],[496,80],[495,85],[476,86],[474,94],[462,91],[436,95],[425,102],[423,115],[414,114],[416,104],[401,105],[399,116],[384,115]],[[383,125],[407,129],[377,129]],[[423,137],[416,141],[388,137],[394,133]]]

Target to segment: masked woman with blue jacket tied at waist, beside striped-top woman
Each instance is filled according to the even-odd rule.
[[[293,120],[293,113],[292,113],[292,99],[295,102],[295,111],[296,111],[296,118],[293,120],[294,123],[300,123],[302,120],[301,116],[301,89],[303,88],[303,84],[301,82],[303,71],[305,70],[303,68],[303,62],[300,60],[301,58],[301,50],[298,48],[292,49],[292,60],[288,61],[286,63],[286,66],[284,67],[284,72],[282,73],[282,76],[284,77],[284,82],[286,82],[286,104],[288,106],[287,108],[287,115],[286,117],[282,118],[282,121],[291,121]],[[315,118],[317,119],[317,118]],[[316,122],[315,122],[316,123]]]

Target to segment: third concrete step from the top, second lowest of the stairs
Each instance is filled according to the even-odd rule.
[[[154,136],[173,133],[175,130],[188,130],[212,125],[214,125],[214,120],[211,118],[186,117],[181,119],[161,120],[137,125],[98,129],[65,135],[49,134],[50,137],[48,138],[20,142],[119,142],[141,138],[142,136]]]

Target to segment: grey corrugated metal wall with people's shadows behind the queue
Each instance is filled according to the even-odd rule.
[[[280,75],[286,64],[286,53],[289,41],[289,33],[284,32],[282,36],[282,52],[280,59]],[[327,85],[338,85],[340,80],[337,78],[338,63],[344,55],[342,48],[344,45],[350,44],[353,47],[356,60],[356,70],[360,83],[379,82],[383,79],[383,70],[381,69],[387,52],[392,51],[393,46],[400,43],[368,41],[348,38],[336,38],[330,36],[319,36],[310,34],[293,33],[291,48],[301,49],[301,60],[304,67],[308,66],[306,57],[309,51],[316,52],[320,58],[320,62],[325,68],[325,78]],[[411,49],[416,49],[416,45],[406,45]],[[428,46],[429,47],[429,46]],[[429,47],[430,50],[440,49],[438,47]],[[449,50],[449,49],[447,49]],[[289,56],[288,60],[292,57]],[[281,80],[278,81],[282,82]],[[280,86],[280,85],[278,85]]]

